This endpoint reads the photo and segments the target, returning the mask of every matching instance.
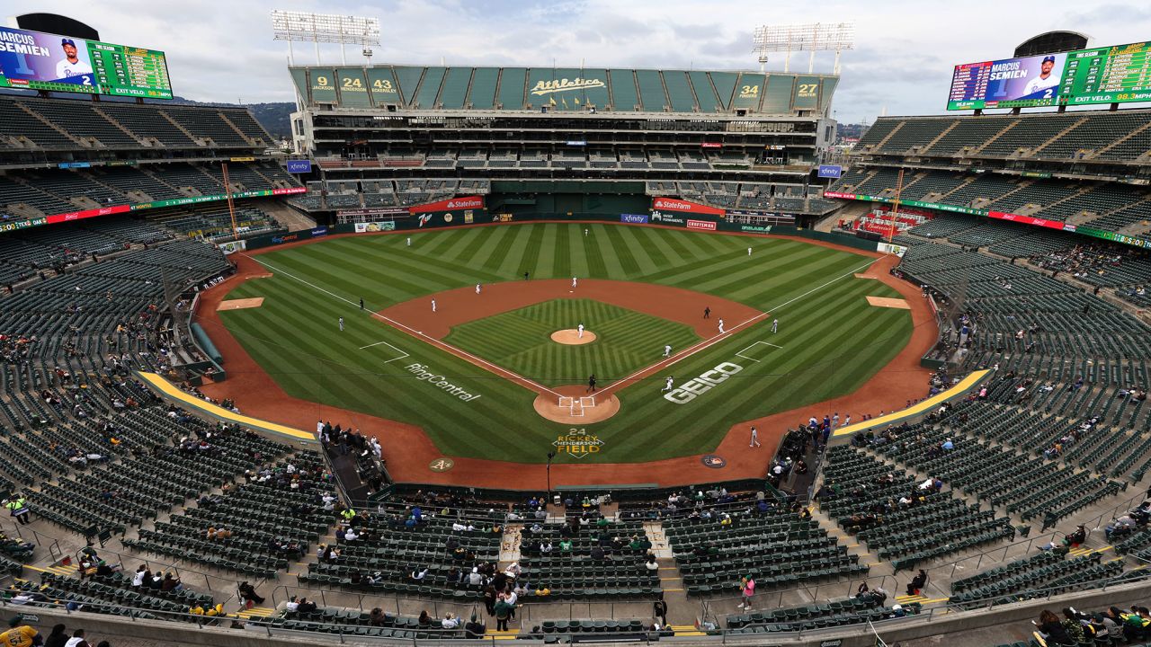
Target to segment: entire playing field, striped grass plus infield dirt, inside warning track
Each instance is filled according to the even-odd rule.
[[[856,276],[874,258],[795,239],[527,223],[251,259],[270,276],[224,298],[262,302],[218,315],[260,370],[289,396],[348,410],[345,425],[357,412],[414,425],[456,457],[540,463],[572,431],[596,450],[557,462],[704,454],[735,425],[855,390],[913,329],[907,310],[875,305],[899,292]],[[580,324],[590,343],[552,340]],[[618,412],[584,423],[610,398]],[[539,402],[572,419],[541,417]]]

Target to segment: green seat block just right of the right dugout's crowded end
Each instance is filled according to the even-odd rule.
[[[820,505],[897,571],[1015,534],[1011,519],[922,488],[904,470],[847,446],[828,449]]]

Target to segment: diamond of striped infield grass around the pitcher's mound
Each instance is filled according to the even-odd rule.
[[[551,333],[587,322],[596,340],[563,345]],[[630,375],[660,361],[663,344],[685,349],[699,336],[691,327],[588,299],[554,299],[451,329],[449,344],[544,386],[581,383],[592,373]],[[603,385],[604,382],[601,382]]]

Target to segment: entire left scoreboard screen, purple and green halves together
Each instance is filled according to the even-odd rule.
[[[163,52],[6,26],[0,87],[171,99]]]

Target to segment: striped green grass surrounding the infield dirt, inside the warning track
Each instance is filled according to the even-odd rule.
[[[585,228],[589,236],[584,236]],[[368,312],[379,311],[477,282],[523,280],[524,272],[531,272],[539,279],[574,275],[660,283],[778,317],[777,335],[767,325],[753,326],[676,364],[677,381],[722,361],[744,367],[688,404],[661,397],[664,375],[620,391],[619,413],[587,428],[605,444],[584,462],[643,462],[708,451],[733,424],[855,390],[906,345],[912,332],[908,311],[867,303],[868,295],[898,292],[852,276],[871,259],[800,241],[582,223],[421,231],[411,234],[411,248],[404,244],[406,236],[334,238],[254,257],[275,276],[249,281],[229,298],[265,297],[264,305],[220,315],[288,394],[419,425],[449,456],[542,462],[550,443],[569,427],[536,416],[532,391],[360,312],[359,298]],[[337,317],[346,321],[342,334]],[[485,321],[462,326],[452,335],[479,343]],[[479,328],[465,330],[473,326]],[[381,341],[387,343],[378,344]],[[630,341],[620,349],[647,357],[650,343]],[[378,345],[360,348],[368,344]],[[483,355],[494,352],[518,360],[511,349]],[[397,360],[403,353],[407,357]],[[482,397],[463,402],[417,380],[404,371],[413,361]],[[574,460],[564,454],[557,459]]]

